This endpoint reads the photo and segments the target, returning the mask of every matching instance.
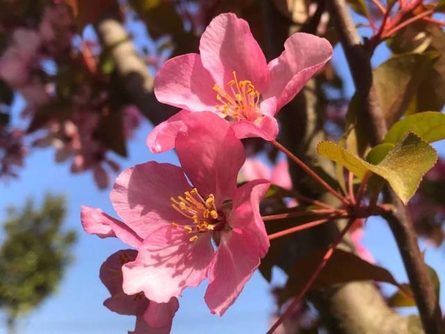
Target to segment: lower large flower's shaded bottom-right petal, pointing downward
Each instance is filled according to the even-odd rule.
[[[254,245],[254,235],[238,228],[221,237],[204,297],[212,313],[223,315],[260,265],[260,250]]]

